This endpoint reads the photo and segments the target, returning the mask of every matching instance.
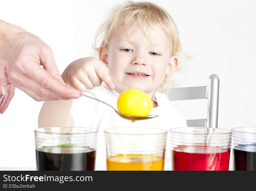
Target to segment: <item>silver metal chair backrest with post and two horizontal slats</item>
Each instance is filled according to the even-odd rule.
[[[171,88],[167,97],[170,101],[208,99],[207,119],[187,120],[188,127],[218,127],[219,77],[212,74],[208,86]]]

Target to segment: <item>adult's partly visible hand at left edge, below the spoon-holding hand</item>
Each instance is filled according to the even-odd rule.
[[[0,113],[3,114],[14,96],[15,86],[8,79],[8,65],[0,58]]]

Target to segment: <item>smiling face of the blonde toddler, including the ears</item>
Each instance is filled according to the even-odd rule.
[[[165,75],[175,71],[177,58],[172,56],[172,42],[159,25],[149,40],[140,28],[132,28],[128,35],[126,27],[120,26],[108,47],[100,51],[100,59],[107,63],[119,93],[139,89],[152,96]]]

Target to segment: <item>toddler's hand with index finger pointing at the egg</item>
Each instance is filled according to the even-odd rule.
[[[81,92],[92,90],[104,82],[109,89],[114,90],[115,84],[109,75],[109,69],[101,60],[86,57],[75,60],[64,70],[61,75],[64,82]]]

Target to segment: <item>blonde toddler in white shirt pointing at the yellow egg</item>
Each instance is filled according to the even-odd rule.
[[[121,92],[142,90],[152,99],[149,115],[158,117],[131,122],[100,102],[80,97],[45,101],[38,126],[97,128],[95,170],[106,170],[105,129],[152,127],[169,130],[186,126],[186,120],[165,94],[172,85],[171,77],[178,67],[182,50],[177,27],[163,8],[150,2],[132,1],[112,10],[97,32],[94,48],[99,58],[87,57],[72,62],[62,74],[65,83],[115,108]],[[169,169],[169,135],[166,145],[165,169]]]

